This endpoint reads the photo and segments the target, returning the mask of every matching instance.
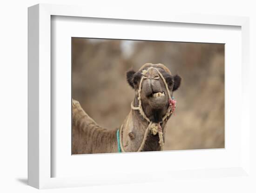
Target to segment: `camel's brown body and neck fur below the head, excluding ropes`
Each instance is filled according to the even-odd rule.
[[[130,121],[130,120],[133,121]],[[132,122],[132,126],[130,123]],[[145,130],[148,126],[138,111],[130,111],[125,119],[123,128],[123,145],[127,152],[135,152],[139,149]],[[72,129],[72,154],[99,154],[115,153],[117,149],[117,129],[108,130],[101,128],[81,108],[80,103],[74,100],[73,105],[73,129]],[[135,138],[130,137],[133,133]],[[129,137],[125,137],[129,136]],[[149,134],[142,151],[159,151],[157,135]]]

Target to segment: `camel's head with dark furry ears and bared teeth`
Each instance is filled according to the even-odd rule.
[[[170,92],[177,90],[181,84],[181,77],[173,76],[163,64],[148,63],[144,64],[137,72],[128,71],[127,81],[135,90],[134,105],[138,106],[140,92],[141,105],[145,115],[152,122],[161,122],[169,106],[168,90]],[[164,82],[168,85],[168,90]]]

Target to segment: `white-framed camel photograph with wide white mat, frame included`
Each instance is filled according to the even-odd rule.
[[[248,176],[249,19],[94,11],[28,8],[28,184]]]

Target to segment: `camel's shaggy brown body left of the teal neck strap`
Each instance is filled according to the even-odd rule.
[[[72,154],[117,152],[116,130],[101,128],[73,102]]]

